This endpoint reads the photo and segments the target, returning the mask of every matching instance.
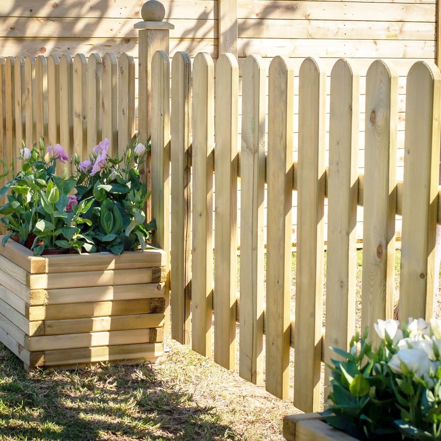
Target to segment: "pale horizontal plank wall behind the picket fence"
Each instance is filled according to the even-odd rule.
[[[193,58],[207,52],[216,63],[220,38],[217,0],[164,0],[165,19],[175,26],[170,30],[170,57],[177,51]],[[69,4],[47,0],[4,0],[0,4],[0,54],[3,56],[48,56],[64,53],[92,53],[101,57],[123,52],[134,57],[138,78],[138,30],[133,25],[140,18],[142,1],[127,4],[124,0],[97,0],[84,6],[81,0]],[[397,179],[403,179],[405,76],[418,59],[434,60],[436,36],[435,0],[375,1],[301,1],[238,0],[237,45],[233,45],[239,62],[239,95],[242,94],[242,67],[245,57],[253,53],[263,57],[268,69],[271,57],[285,55],[293,59],[295,71],[294,112],[298,112],[298,72],[304,57],[321,57],[329,75],[340,57],[357,60],[361,68],[360,108],[364,109],[366,70],[375,58],[392,62],[399,78],[399,133],[397,139]],[[228,33],[230,35],[230,33]],[[49,70],[49,67],[48,67]],[[49,74],[49,72],[48,72]],[[74,96],[75,97],[75,96]],[[329,121],[329,95],[327,97]],[[49,109],[50,111],[50,109]],[[241,123],[239,98],[239,132]],[[37,113],[38,115],[38,113]],[[359,172],[364,171],[364,113],[360,116]],[[135,90],[135,129],[138,129],[138,81]],[[327,122],[326,130],[329,130]],[[14,134],[15,135],[15,134]],[[326,137],[328,139],[328,136]],[[328,150],[328,141],[326,150]],[[294,159],[297,160],[297,115],[294,120]],[[238,144],[240,149],[240,142]],[[328,164],[328,152],[325,162]],[[240,191],[240,183],[239,183]],[[238,199],[240,221],[240,198]],[[266,206],[266,203],[265,203]],[[296,241],[296,203],[293,209],[292,242]],[[359,209],[357,238],[363,234]],[[325,217],[327,216],[325,212]],[[325,224],[327,219],[325,218]],[[266,220],[265,220],[266,225]],[[327,233],[325,228],[325,240]],[[401,221],[396,222],[400,234]],[[239,234],[240,239],[240,234]]]

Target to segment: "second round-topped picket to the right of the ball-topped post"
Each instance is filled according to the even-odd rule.
[[[176,52],[172,60],[172,339],[191,336],[191,60]]]

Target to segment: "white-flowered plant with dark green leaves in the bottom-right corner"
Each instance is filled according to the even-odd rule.
[[[367,331],[349,351],[333,350],[326,421],[361,440],[441,439],[441,320],[378,320],[375,350]],[[392,437],[392,438],[391,438]]]

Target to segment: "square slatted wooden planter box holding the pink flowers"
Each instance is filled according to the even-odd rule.
[[[35,257],[8,240],[0,245],[0,341],[25,369],[157,361],[165,264],[162,250]]]

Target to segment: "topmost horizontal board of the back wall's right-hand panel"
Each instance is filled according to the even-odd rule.
[[[366,7],[364,2],[287,0],[241,1],[239,19],[308,19],[308,20],[371,20],[435,22],[434,4],[381,3]]]

